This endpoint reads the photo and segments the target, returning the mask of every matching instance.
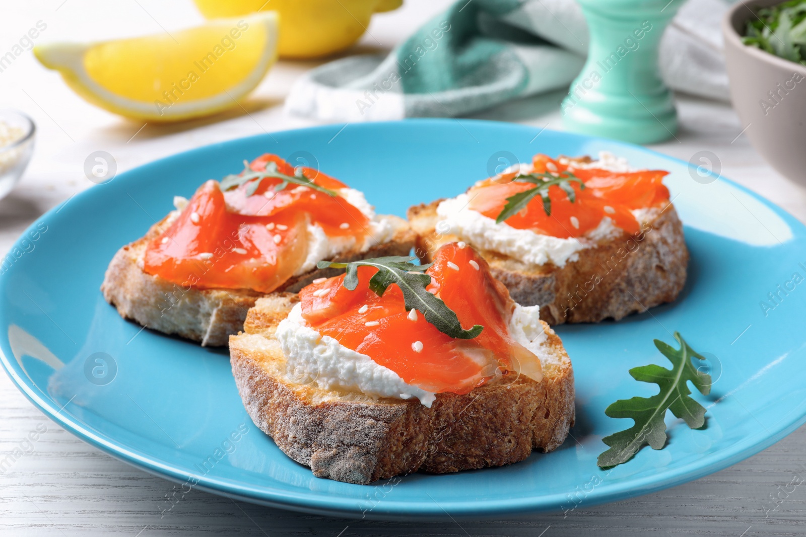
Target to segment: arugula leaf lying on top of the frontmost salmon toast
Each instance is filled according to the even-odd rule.
[[[434,324],[440,332],[446,333],[450,337],[472,339],[478,336],[484,326],[476,324],[469,330],[463,329],[456,313],[448,308],[442,299],[438,299],[426,291],[426,286],[431,283],[431,277],[423,274],[423,271],[432,263],[415,265],[412,263],[413,259],[415,258],[389,256],[344,263],[320,261],[317,263],[317,267],[320,269],[347,269],[347,274],[344,276],[344,287],[353,291],[358,285],[358,267],[375,266],[378,271],[369,280],[369,288],[376,295],[383,296],[390,285],[397,283],[397,287],[403,291],[405,311],[418,310],[430,324]]]

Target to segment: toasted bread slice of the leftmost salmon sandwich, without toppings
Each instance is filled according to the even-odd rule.
[[[395,233],[389,242],[372,246],[366,252],[347,252],[336,261],[355,261],[384,255],[409,255],[415,234],[400,217],[389,218]],[[168,217],[166,217],[167,219]],[[231,334],[243,328],[247,311],[264,293],[250,289],[197,289],[168,282],[143,271],[146,246],[164,229],[160,221],[145,237],[123,246],[112,258],[101,286],[107,302],[126,319],[167,334],[177,334],[202,345],[226,345]],[[289,279],[277,291],[297,292],[314,279],[337,275],[338,269],[307,272]]]

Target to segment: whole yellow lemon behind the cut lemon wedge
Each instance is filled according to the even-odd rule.
[[[195,0],[207,19],[255,11],[280,14],[278,52],[285,58],[315,58],[339,52],[367,31],[373,13],[395,10],[403,0]]]

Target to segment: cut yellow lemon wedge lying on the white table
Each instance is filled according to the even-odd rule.
[[[238,105],[274,64],[276,45],[277,15],[268,11],[171,34],[44,44],[34,54],[93,105],[173,122]]]

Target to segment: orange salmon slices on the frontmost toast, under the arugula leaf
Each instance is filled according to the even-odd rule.
[[[477,268],[476,268],[477,267]],[[344,275],[314,283],[300,292],[302,316],[323,336],[366,354],[407,383],[434,393],[465,394],[502,374],[520,372],[542,378],[540,361],[509,333],[514,302],[492,277],[487,262],[470,247],[442,246],[426,271],[429,291],[441,298],[463,328],[482,324],[480,336],[455,339],[426,321],[422,312],[407,312],[400,287],[383,296],[369,286],[375,267],[359,266],[354,291]]]

